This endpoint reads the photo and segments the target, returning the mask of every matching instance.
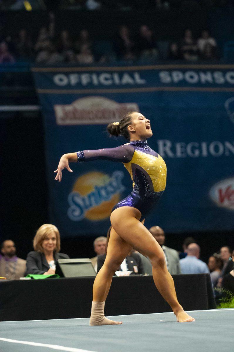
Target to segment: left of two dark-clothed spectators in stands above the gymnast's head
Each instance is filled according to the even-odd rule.
[[[127,26],[121,26],[116,37],[114,50],[119,60],[135,59],[135,43]]]

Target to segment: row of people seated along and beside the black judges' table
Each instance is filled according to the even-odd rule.
[[[107,237],[94,240],[93,249],[96,253],[91,263],[96,272],[104,264],[111,227]],[[200,247],[196,240],[187,237],[183,243],[183,251],[165,246],[165,233],[159,226],[149,229],[165,254],[165,263],[170,274],[201,274],[208,273],[214,289],[223,289],[234,294],[234,251],[229,246],[221,247],[219,253],[209,257],[208,265],[200,258]],[[1,245],[0,276],[19,279],[27,274],[53,275],[58,259],[68,259],[68,255],[60,253],[60,233],[56,226],[42,225],[33,239],[34,251],[27,254],[26,260],[18,258],[12,240],[5,240]],[[90,249],[92,253],[92,249]],[[116,272],[117,276],[130,274],[152,275],[152,265],[148,257],[132,249]]]

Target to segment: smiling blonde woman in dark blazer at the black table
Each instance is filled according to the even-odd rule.
[[[34,251],[26,258],[27,274],[55,274],[58,259],[68,259],[67,254],[60,251],[60,233],[56,226],[44,224],[38,228],[33,239]]]

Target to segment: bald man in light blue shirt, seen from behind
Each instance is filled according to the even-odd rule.
[[[187,247],[187,256],[180,259],[182,274],[210,273],[207,264],[199,259],[200,247],[196,243],[191,243]]]

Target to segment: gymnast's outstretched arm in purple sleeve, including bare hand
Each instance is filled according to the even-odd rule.
[[[55,180],[62,180],[62,170],[67,169],[69,172],[73,170],[69,167],[69,162],[85,162],[97,159],[106,159],[122,163],[131,161],[134,154],[134,147],[130,144],[124,144],[116,148],[97,149],[97,150],[82,150],[76,153],[68,153],[62,155],[58,164]]]

